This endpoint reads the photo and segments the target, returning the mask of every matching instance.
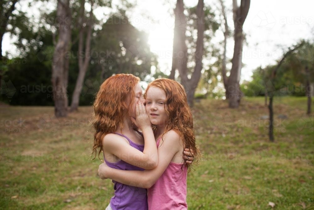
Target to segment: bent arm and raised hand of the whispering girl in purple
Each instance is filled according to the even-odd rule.
[[[107,134],[103,139],[103,150],[117,156],[119,159],[144,169],[152,169],[157,166],[157,147],[153,129],[146,114],[143,103],[136,105],[136,121],[138,127],[143,131],[144,150],[143,152],[130,146],[124,137],[113,133]]]

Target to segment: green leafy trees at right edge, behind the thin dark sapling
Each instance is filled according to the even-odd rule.
[[[314,81],[314,43],[300,41],[299,44],[300,48],[287,56],[273,79],[271,79],[271,75],[277,65],[255,69],[253,80],[245,81],[241,85],[244,95],[262,96],[269,90],[275,90],[276,95],[305,96],[306,81]]]

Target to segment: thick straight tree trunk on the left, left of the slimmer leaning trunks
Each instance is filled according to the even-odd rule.
[[[55,116],[67,116],[67,85],[69,61],[65,54],[71,42],[71,12],[69,0],[59,0],[57,3],[57,18],[61,20],[59,39],[53,54],[52,77],[53,100],[55,102]]]

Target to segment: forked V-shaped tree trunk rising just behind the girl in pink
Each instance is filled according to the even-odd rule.
[[[177,0],[176,4],[176,11],[184,11],[184,4],[183,0]],[[187,91],[187,101],[190,106],[193,106],[193,98],[195,89],[197,88],[199,79],[201,77],[201,71],[203,68],[202,60],[203,60],[203,49],[204,49],[204,1],[199,0],[198,5],[196,7],[196,15],[197,15],[197,41],[196,41],[196,51],[194,54],[195,58],[195,67],[194,72],[190,75],[191,77],[188,77],[188,68],[187,68],[187,44],[186,44],[186,35],[185,30],[181,29],[181,32],[177,33],[178,37],[174,37],[174,39],[178,38],[178,52],[182,54],[182,56],[179,56],[179,53],[177,55],[177,62],[178,65],[178,71],[181,78],[181,83],[185,90]],[[182,12],[180,14],[180,18],[183,19],[183,23],[185,20],[185,15]]]

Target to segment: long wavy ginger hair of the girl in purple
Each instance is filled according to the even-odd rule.
[[[134,101],[134,87],[140,81],[132,74],[117,74],[109,77],[100,86],[94,102],[95,129],[93,154],[95,157],[97,149],[100,148],[98,157],[102,150],[102,139],[108,133],[115,133],[118,128],[123,128],[123,118]],[[130,103],[127,104],[127,99]],[[95,159],[95,157],[93,159]]]

